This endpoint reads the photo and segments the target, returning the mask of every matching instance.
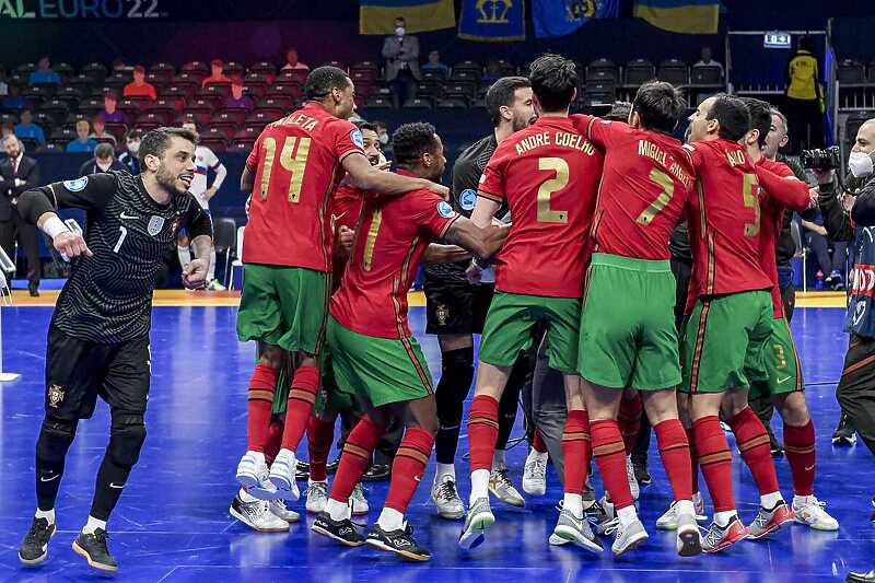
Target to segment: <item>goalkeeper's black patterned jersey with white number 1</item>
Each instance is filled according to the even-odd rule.
[[[85,243],[92,257],[72,261],[72,275],[58,298],[51,326],[97,343],[117,343],[149,334],[152,292],[164,255],[185,226],[194,240],[212,236],[212,223],[191,194],[159,205],[140,176],[93,174],[36,189],[55,209],[84,209]],[[31,191],[33,194],[33,191]],[[36,223],[50,210],[44,197],[21,208]]]

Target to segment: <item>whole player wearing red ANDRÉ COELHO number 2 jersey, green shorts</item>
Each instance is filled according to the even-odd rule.
[[[602,546],[583,517],[590,428],[575,369],[585,243],[602,155],[568,117],[576,95],[574,62],[542,56],[532,63],[529,81],[538,120],[498,145],[483,171],[471,214],[475,224],[486,226],[506,201],[512,226],[497,256],[495,295],[480,343],[468,417],[470,508],[459,546],[470,549],[481,544],[495,521],[488,486],[499,399],[511,366],[520,352],[532,347],[534,328],[542,324],[550,368],[564,375],[569,409],[562,436],[565,494],[553,534],[598,552]]]

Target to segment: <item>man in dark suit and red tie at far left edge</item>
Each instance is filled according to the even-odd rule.
[[[39,295],[39,246],[36,226],[27,223],[19,214],[19,196],[25,190],[36,188],[39,182],[39,167],[36,160],[24,155],[24,144],[14,135],[2,140],[7,159],[0,163],[0,246],[14,260],[14,242],[24,247],[27,256],[27,290],[32,296]]]

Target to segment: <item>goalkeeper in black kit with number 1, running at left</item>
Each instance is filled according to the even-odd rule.
[[[145,440],[155,275],[180,228],[188,229],[202,258],[184,270],[183,283],[202,287],[209,267],[212,223],[188,193],[196,141],[190,131],[160,128],[142,139],[141,174],[93,174],[28,190],[19,199],[22,217],[72,260],[48,330],[46,416],[36,442],[37,510],[19,550],[25,564],[47,557],[57,532],[55,500],[65,457],[79,420],[92,416],[100,395],[112,415],[109,444],[73,550],[95,569],[118,569],[106,545],[106,521]],[[86,211],[84,238],[56,214],[65,208]]]

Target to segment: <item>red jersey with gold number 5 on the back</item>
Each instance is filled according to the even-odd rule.
[[[695,290],[690,300],[770,289],[759,263],[759,184],[744,148],[723,139],[685,148],[698,175],[688,207]]]

